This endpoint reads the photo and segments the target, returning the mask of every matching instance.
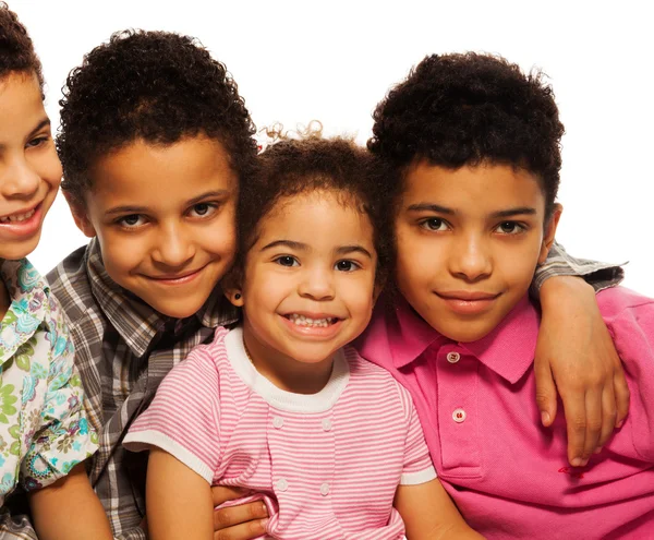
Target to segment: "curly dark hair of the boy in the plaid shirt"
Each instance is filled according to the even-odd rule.
[[[57,149],[62,189],[77,203],[93,188],[95,161],[140,139],[167,145],[203,134],[225,146],[241,182],[251,175],[250,112],[225,64],[192,37],[116,33],[71,71],[63,94]]]

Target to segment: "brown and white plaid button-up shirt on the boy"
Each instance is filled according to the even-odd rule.
[[[538,268],[534,287],[547,277],[583,276],[596,290],[623,276],[614,264],[570,257],[555,245]],[[75,362],[87,396],[88,417],[100,433],[100,449],[90,464],[92,483],[107,511],[116,538],[145,539],[146,456],[122,448],[134,418],[155,395],[164,376],[219,325],[237,320],[221,293],[201,311],[174,320],[153,310],[118,286],[105,271],[96,240],[63,260],[48,274],[51,289],[70,319]],[[0,538],[36,539],[25,516],[0,519]]]

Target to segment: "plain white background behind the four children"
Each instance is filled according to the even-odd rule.
[[[390,85],[426,53],[497,52],[543,69],[567,133],[558,239],[569,252],[630,261],[625,284],[654,296],[654,33],[650,2],[9,0],[35,41],[58,123],[70,69],[112,32],[198,37],[223,61],[258,127],[319,119],[364,142]],[[33,262],[46,272],[85,242],[60,195]]]

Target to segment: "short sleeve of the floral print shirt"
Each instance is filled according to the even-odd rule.
[[[21,461],[21,482],[27,491],[45,488],[66,476],[98,448],[97,433],[90,427],[84,408],[84,391],[73,361],[74,349],[68,326],[55,302],[51,310],[46,336],[50,343],[50,363],[44,406],[37,421],[25,419],[25,422],[37,425]],[[37,381],[35,375],[29,380]],[[25,403],[23,408],[25,413]],[[38,411],[32,413],[39,415]]]

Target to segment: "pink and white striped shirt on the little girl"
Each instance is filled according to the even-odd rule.
[[[284,392],[254,369],[241,328],[174,368],[124,445],[259,493],[277,539],[401,539],[397,487],[436,478],[411,396],[387,371],[347,347],[319,393]]]

